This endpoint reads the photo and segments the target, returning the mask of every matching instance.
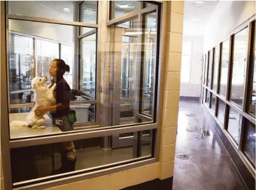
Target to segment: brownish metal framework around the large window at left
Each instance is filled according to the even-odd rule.
[[[156,11],[157,12],[157,54],[156,54],[156,64],[159,65],[159,68],[156,71],[156,77],[157,80],[155,80],[155,83],[157,85],[154,85],[154,105],[152,106],[152,110],[154,110],[154,113],[156,113],[156,110],[159,110],[157,114],[154,114],[152,116],[153,121],[150,123],[144,123],[141,125],[138,124],[131,124],[131,125],[117,125],[117,126],[111,126],[111,127],[102,127],[101,130],[92,130],[92,129],[82,129],[82,130],[76,130],[73,132],[63,132],[61,135],[50,135],[49,137],[37,137],[37,138],[27,138],[27,139],[17,139],[17,140],[10,140],[9,139],[9,119],[6,119],[9,117],[9,103],[7,100],[9,100],[9,88],[7,87],[9,82],[7,82],[7,75],[9,68],[7,68],[9,57],[7,57],[7,49],[6,49],[6,42],[8,41],[8,38],[6,38],[7,35],[7,30],[6,30],[6,22],[9,19],[14,19],[14,20],[26,20],[26,21],[31,21],[31,22],[43,22],[43,23],[52,23],[52,24],[60,24],[60,25],[71,25],[71,26],[81,26],[81,27],[89,27],[89,28],[99,28],[98,24],[89,24],[89,23],[80,23],[80,22],[69,22],[69,21],[64,21],[64,20],[56,20],[56,19],[51,19],[51,18],[38,18],[38,17],[28,17],[28,16],[23,16],[23,15],[11,15],[6,13],[6,10],[8,10],[7,6],[7,1],[6,2],[1,2],[1,63],[7,63],[7,64],[1,64],[1,69],[7,72],[4,72],[4,74],[1,74],[1,90],[2,92],[6,92],[6,89],[8,91],[6,93],[2,93],[1,95],[1,109],[2,109],[2,114],[1,114],[1,121],[2,125],[8,126],[4,127],[1,130],[1,140],[2,143],[5,144],[5,146],[2,146],[2,152],[5,152],[5,155],[3,155],[3,160],[2,163],[4,165],[4,183],[5,187],[7,189],[12,189],[13,184],[12,184],[12,174],[11,174],[11,167],[10,167],[10,149],[11,148],[19,148],[19,147],[25,147],[25,146],[33,146],[36,144],[49,144],[49,143],[54,143],[54,142],[63,142],[67,140],[78,140],[78,139],[85,139],[85,138],[92,138],[92,137],[107,137],[108,135],[115,135],[115,134],[120,134],[120,133],[129,133],[129,132],[139,132],[142,130],[152,130],[154,135],[152,138],[152,156],[151,157],[142,157],[134,160],[126,160],[125,162],[118,162],[116,163],[115,167],[111,168],[110,165],[104,165],[101,168],[107,167],[104,170],[99,170],[99,168],[95,168],[95,170],[99,170],[98,172],[93,171],[93,173],[81,173],[80,176],[77,176],[77,174],[80,174],[80,171],[75,172],[75,175],[72,176],[67,176],[66,178],[59,178],[59,180],[56,181],[45,181],[43,184],[33,184],[33,188],[44,188],[46,185],[47,186],[55,186],[58,184],[65,184],[65,183],[70,183],[73,182],[74,180],[84,180],[87,178],[91,178],[93,176],[99,176],[99,175],[104,175],[105,172],[108,173],[114,173],[122,170],[127,170],[128,168],[134,168],[138,167],[139,165],[146,165],[146,164],[151,164],[159,161],[160,156],[160,144],[156,143],[159,142],[160,139],[160,133],[156,133],[157,129],[160,130],[160,121],[162,119],[162,102],[163,102],[163,74],[164,73],[164,68],[162,66],[162,62],[164,62],[163,57],[165,57],[165,46],[163,46],[165,43],[165,39],[163,39],[163,36],[165,36],[165,31],[162,30],[163,23],[166,21],[166,16],[165,12],[162,12],[162,10],[167,9],[167,4],[164,4],[163,2],[154,2],[152,6],[142,8],[143,4],[146,2],[141,2],[139,1],[140,4],[140,9],[139,10],[134,10],[133,12],[130,12],[129,14],[123,15],[121,17],[118,17],[117,19],[109,20],[107,21],[107,26],[115,25],[118,22],[125,22],[125,20],[129,20],[134,17],[141,18],[143,14],[149,14],[151,12]],[[78,5],[81,2],[76,2],[76,7],[75,11],[79,10]],[[109,4],[110,2],[108,2]],[[109,13],[108,13],[109,14]],[[99,15],[99,9],[97,12],[97,15]],[[76,15],[78,17],[78,15]],[[78,33],[78,27],[76,27],[75,33]],[[2,29],[3,28],[3,29]],[[75,35],[76,38],[78,35]],[[99,30],[97,30],[97,36],[99,36]],[[75,52],[78,49],[78,41],[75,41]],[[97,41],[97,46],[99,41]],[[3,48],[4,47],[4,48]],[[97,50],[98,52],[99,50]],[[99,54],[97,54],[97,65],[99,64]],[[74,68],[75,70],[75,68]],[[100,75],[99,75],[99,66],[97,66],[97,82],[100,81]],[[96,102],[97,106],[99,106],[99,85],[97,85],[97,98],[95,101],[87,101],[88,103],[93,103]],[[105,89],[105,87],[104,87]],[[157,94],[155,96],[155,94]],[[81,103],[81,101],[80,101]],[[85,103],[85,101],[82,101],[82,103]],[[79,102],[78,102],[79,104]],[[99,116],[99,109],[97,109],[97,116]],[[96,126],[96,125],[94,125]],[[91,127],[91,126],[88,126]],[[86,127],[87,128],[87,127]],[[57,137],[57,138],[56,138]],[[104,139],[105,140],[105,139]],[[119,164],[119,165],[118,165]],[[94,168],[93,168],[94,169]],[[52,179],[52,178],[51,178]],[[38,180],[36,180],[38,181]],[[22,189],[30,189],[28,186],[24,186]]]

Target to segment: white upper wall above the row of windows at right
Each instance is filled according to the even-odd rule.
[[[255,1],[219,1],[204,34],[204,52],[225,40],[227,34],[255,14]]]

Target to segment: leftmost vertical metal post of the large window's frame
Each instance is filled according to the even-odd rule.
[[[10,143],[9,143],[9,116],[8,116],[8,83],[7,82],[7,34],[6,34],[6,26],[7,19],[6,19],[6,11],[8,10],[7,2],[0,1],[0,53],[1,53],[1,156],[2,156],[2,167],[3,167],[3,175],[4,175],[4,189],[12,189],[12,173],[10,167]]]

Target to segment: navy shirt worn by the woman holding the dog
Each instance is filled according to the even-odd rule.
[[[51,81],[51,86],[52,85],[54,85],[53,79]],[[68,111],[70,110],[71,92],[70,86],[63,77],[56,82],[54,97],[56,98],[56,105],[62,103],[62,105],[65,105],[65,109],[57,109],[56,112],[51,112],[52,117],[67,116]]]

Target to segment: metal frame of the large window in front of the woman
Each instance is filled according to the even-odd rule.
[[[7,2],[1,1],[0,4],[0,9],[1,9],[1,63],[7,63],[7,55],[6,55],[6,22],[8,19],[14,19],[14,20],[25,20],[25,21],[31,21],[31,22],[44,22],[44,23],[52,23],[52,24],[60,24],[60,25],[71,25],[71,26],[82,26],[82,27],[89,27],[89,28],[98,28],[99,26],[97,24],[86,24],[86,23],[80,23],[80,22],[69,22],[69,21],[64,21],[64,20],[56,20],[56,19],[51,19],[51,18],[38,18],[38,17],[27,17],[27,16],[21,16],[21,15],[10,15],[6,14],[7,9]],[[158,98],[157,101],[155,101],[155,110],[158,110],[158,114],[154,116],[155,118],[155,123],[150,123],[150,124],[142,124],[142,125],[128,125],[130,127],[127,127],[127,125],[120,125],[118,127],[110,127],[110,129],[102,129],[102,130],[97,130],[95,132],[73,132],[70,134],[64,134],[64,135],[58,135],[54,137],[47,137],[47,138],[38,138],[37,140],[17,140],[17,141],[10,141],[9,140],[9,120],[6,119],[9,117],[9,111],[8,111],[8,102],[9,100],[9,90],[6,91],[7,85],[9,82],[7,82],[7,78],[9,78],[8,75],[8,69],[7,69],[7,64],[1,64],[1,70],[6,71],[1,73],[1,125],[2,125],[2,130],[1,130],[1,143],[4,144],[2,146],[2,163],[3,163],[3,168],[4,168],[4,184],[6,189],[12,189],[13,184],[12,184],[12,175],[11,175],[11,167],[10,167],[10,149],[15,148],[15,147],[23,147],[23,146],[31,146],[31,143],[33,144],[49,144],[51,142],[60,142],[60,141],[67,141],[68,139],[70,140],[76,140],[76,139],[81,139],[81,138],[91,138],[91,137],[99,137],[102,135],[113,135],[115,133],[126,133],[126,132],[137,132],[137,131],[142,131],[142,130],[149,130],[153,129],[153,132],[155,136],[157,136],[156,139],[153,139],[153,141],[156,141],[155,146],[152,146],[152,154],[154,154],[154,158],[152,159],[147,159],[147,160],[141,160],[139,162],[134,162],[134,163],[129,163],[128,165],[122,165],[119,167],[114,167],[114,168],[108,168],[107,170],[101,170],[101,171],[96,171],[93,173],[93,175],[89,175],[89,177],[92,176],[99,176],[103,175],[105,173],[111,173],[111,172],[119,172],[120,170],[125,170],[127,168],[133,168],[133,167],[138,167],[139,165],[145,165],[149,163],[154,163],[159,161],[159,152],[160,152],[160,132],[161,132],[161,118],[162,118],[162,103],[163,103],[163,69],[164,69],[164,64],[165,63],[165,33],[166,33],[166,26],[163,25],[163,23],[166,22],[167,20],[167,15],[165,13],[167,12],[167,3],[166,2],[161,2],[155,6],[150,6],[146,7],[145,9],[142,9],[139,11],[140,14],[147,14],[150,12],[153,12],[154,10],[160,10],[158,12],[159,17],[157,20],[159,23],[161,23],[160,26],[157,27],[157,32],[159,32],[158,35],[158,50],[157,55],[159,56],[159,79],[157,81],[158,86],[156,87],[157,89],[157,94]],[[97,12],[99,14],[99,11]],[[134,15],[134,12],[133,12]],[[129,15],[128,17],[130,17]],[[125,19],[128,18],[125,16]],[[117,22],[121,22],[123,18],[118,18],[118,20],[114,20],[114,23],[116,24]],[[113,21],[112,21],[113,23]],[[123,22],[122,22],[123,23]],[[108,23],[108,26],[110,23]],[[77,27],[76,27],[77,28]],[[99,30],[97,30],[99,32]],[[97,42],[98,43],[98,42]],[[77,46],[77,44],[75,44]],[[99,63],[99,58],[97,57],[97,63]],[[99,72],[98,72],[99,73]],[[97,75],[97,79],[99,79],[99,75]],[[98,80],[100,81],[100,80]],[[99,88],[97,89],[97,93],[99,93]],[[96,100],[97,101],[97,100]],[[99,110],[99,109],[97,109]],[[124,128],[125,127],[125,128]],[[116,129],[115,129],[116,128]],[[157,129],[157,133],[156,133]],[[56,138],[57,140],[54,140]],[[51,140],[50,140],[51,139]],[[22,144],[20,144],[22,143]],[[20,144],[20,145],[19,145]],[[75,178],[75,179],[74,179]],[[81,176],[74,176],[74,178],[64,178],[59,181],[48,181],[47,183],[44,184],[36,184],[33,185],[32,187],[23,187],[22,189],[30,189],[30,188],[45,188],[47,186],[54,186],[56,184],[64,184],[67,182],[73,182],[75,180],[82,180],[86,179],[85,175]],[[87,176],[88,178],[88,176]]]

